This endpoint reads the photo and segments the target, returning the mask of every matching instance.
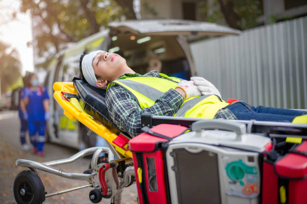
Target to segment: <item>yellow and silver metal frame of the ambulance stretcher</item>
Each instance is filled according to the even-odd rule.
[[[44,163],[26,160],[26,159],[19,159],[16,161],[16,165],[18,166],[25,166],[29,167],[32,171],[34,171],[37,175],[39,175],[38,170],[43,170],[52,174],[56,174],[62,177],[76,179],[76,180],[87,180],[89,184],[82,185],[74,188],[69,188],[53,193],[48,193],[45,197],[53,196],[62,194],[65,192],[69,192],[72,190],[81,189],[84,187],[93,187],[93,188],[101,188],[101,185],[97,182],[93,182],[94,174],[87,174],[87,173],[70,173],[63,171],[61,169],[57,169],[54,166],[64,163],[71,163],[78,158],[84,157],[88,154],[93,153],[93,157],[91,160],[91,167],[94,168],[96,171],[97,168],[101,167],[102,164],[96,164],[98,160],[98,156],[101,152],[108,153],[108,160],[112,160],[113,156],[115,155],[117,160],[114,163],[115,166],[118,164],[118,161],[125,160],[127,163],[132,163],[132,152],[127,148],[128,144],[124,146],[118,146],[114,140],[119,138],[119,135],[111,132],[107,127],[105,127],[100,122],[96,121],[93,117],[88,115],[86,112],[78,109],[75,107],[67,98],[64,97],[64,93],[72,93],[77,94],[73,82],[55,82],[53,86],[54,98],[60,104],[60,106],[64,109],[64,114],[70,119],[78,119],[81,123],[87,126],[89,129],[94,131],[99,136],[103,137],[108,144],[108,147],[91,147],[79,151],[75,155],[54,161],[48,161]],[[148,126],[152,127],[161,123],[168,123],[168,124],[179,124],[187,127],[191,127],[192,123],[202,120],[200,118],[185,118],[185,117],[173,117],[173,116],[157,116],[157,115],[150,115],[144,114],[141,115],[141,126]],[[204,119],[206,120],[206,119]],[[265,121],[255,121],[255,120],[229,120],[229,121],[236,121],[242,122],[247,126],[247,132],[253,133],[261,133],[265,134],[266,136],[276,136],[276,137],[298,137],[307,139],[307,125],[306,124],[293,124],[288,122],[265,122]],[[97,176],[97,175],[96,175]],[[129,166],[127,167],[124,172],[123,176],[119,178],[120,180],[120,188],[116,191],[115,194],[112,195],[111,203],[121,203],[121,192],[122,188],[131,184],[132,176],[134,175],[134,167]],[[111,179],[108,177],[108,179]],[[91,198],[91,196],[90,196]]]

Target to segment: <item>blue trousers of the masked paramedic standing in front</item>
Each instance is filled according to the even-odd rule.
[[[34,147],[37,148],[37,151],[43,151],[43,147],[46,140],[45,126],[46,126],[46,121],[32,121],[31,119],[28,120],[31,143]]]

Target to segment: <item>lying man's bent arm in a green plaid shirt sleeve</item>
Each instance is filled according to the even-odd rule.
[[[106,92],[106,105],[112,121],[121,131],[131,136],[141,132],[141,114],[172,116],[183,102],[184,96],[172,88],[158,98],[154,105],[143,109],[137,104],[133,95],[119,85],[111,86]]]

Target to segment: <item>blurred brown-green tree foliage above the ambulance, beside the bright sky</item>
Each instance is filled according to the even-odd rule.
[[[98,32],[108,22],[119,20],[126,13],[131,13],[131,9],[133,12],[132,0],[21,0],[21,2],[21,11],[30,10],[33,17],[34,31],[36,31],[33,46],[38,47],[40,57],[47,58],[45,64],[64,48],[66,42],[81,40]],[[122,6],[126,6],[125,9]],[[133,18],[133,15],[129,14],[127,18]]]

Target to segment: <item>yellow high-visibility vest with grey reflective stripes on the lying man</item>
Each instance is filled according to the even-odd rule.
[[[143,108],[154,105],[156,100],[170,88],[175,88],[181,80],[160,73],[166,78],[153,76],[131,76],[124,79],[114,80],[107,88],[118,84],[130,92],[139,106]],[[217,95],[202,95],[185,99],[182,106],[174,116],[200,117],[212,119],[217,111],[226,107],[229,103],[220,99]]]

